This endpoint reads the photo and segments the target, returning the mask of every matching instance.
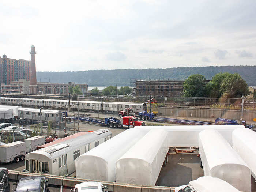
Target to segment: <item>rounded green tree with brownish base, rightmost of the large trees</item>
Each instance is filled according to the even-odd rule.
[[[240,98],[250,94],[247,83],[237,73],[226,76],[221,83],[220,92],[222,97],[227,98]]]

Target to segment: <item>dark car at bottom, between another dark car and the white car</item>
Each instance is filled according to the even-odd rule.
[[[14,183],[14,185],[17,185],[15,192],[50,192],[48,181],[45,176],[21,178],[18,183]]]

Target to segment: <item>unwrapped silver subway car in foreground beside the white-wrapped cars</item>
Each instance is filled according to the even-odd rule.
[[[31,173],[44,173],[66,176],[75,172],[75,160],[99,144],[110,139],[111,131],[97,131],[45,147],[26,154],[25,170]]]

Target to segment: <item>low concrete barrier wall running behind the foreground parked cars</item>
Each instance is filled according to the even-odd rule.
[[[96,181],[96,180],[87,180],[73,177],[62,177],[48,174],[37,174],[37,173],[27,173],[9,170],[9,178],[11,180],[20,180],[24,177],[29,176],[45,176],[49,179],[50,185],[59,185],[67,187],[75,187],[76,184],[87,181]],[[142,185],[132,185],[125,183],[116,183],[108,181],[98,181],[102,182],[103,186],[108,187],[109,192],[175,192],[174,187],[164,187],[164,186],[142,186]]]

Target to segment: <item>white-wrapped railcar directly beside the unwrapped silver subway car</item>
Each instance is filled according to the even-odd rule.
[[[146,133],[127,129],[76,158],[76,177],[116,181],[116,161]]]

